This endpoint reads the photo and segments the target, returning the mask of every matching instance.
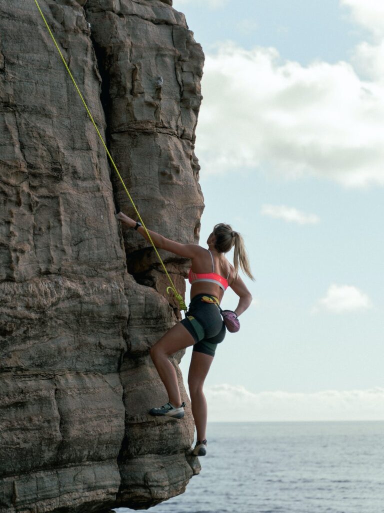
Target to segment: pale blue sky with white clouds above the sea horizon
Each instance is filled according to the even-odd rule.
[[[384,420],[384,3],[173,6],[205,53],[200,244],[231,224],[255,276],[208,420]]]

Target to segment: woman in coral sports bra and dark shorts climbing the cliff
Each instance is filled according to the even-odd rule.
[[[117,219],[135,228],[147,241],[148,236],[141,226],[122,212]],[[254,279],[250,271],[243,238],[227,224],[217,224],[209,235],[208,248],[197,244],[180,244],[148,230],[158,249],[165,249],[180,257],[192,260],[189,271],[191,302],[187,316],[170,328],[151,348],[151,358],[168,393],[168,402],[152,408],[151,415],[166,415],[181,419],[185,403],[181,402],[176,371],[168,357],[188,346],[194,346],[188,373],[189,395],[192,415],[197,430],[195,456],[206,454],[207,403],[203,383],[215,356],[218,343],[225,337],[225,325],[216,301],[220,304],[225,289],[229,286],[239,296],[234,312],[240,315],[251,304],[252,296],[239,277],[239,264],[245,274]],[[224,254],[234,246],[234,267]],[[216,272],[215,272],[216,271]],[[226,277],[226,278],[224,278]]]

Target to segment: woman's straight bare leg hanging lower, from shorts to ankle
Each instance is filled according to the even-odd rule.
[[[189,366],[189,396],[192,415],[195,419],[197,439],[200,442],[206,439],[207,428],[207,402],[203,392],[203,384],[213,359],[214,357],[209,354],[193,351]]]

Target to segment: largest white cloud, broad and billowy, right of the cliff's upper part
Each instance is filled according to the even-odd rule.
[[[206,55],[197,148],[203,172],[263,169],[384,185],[384,85],[346,62],[308,67],[231,41]]]

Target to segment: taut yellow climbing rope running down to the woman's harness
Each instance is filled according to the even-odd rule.
[[[67,65],[67,63],[66,63],[66,61],[65,61],[65,58],[63,57],[63,55],[62,55],[62,53],[61,53],[61,50],[60,50],[60,48],[58,47],[58,45],[57,45],[57,43],[56,43],[56,40],[55,40],[55,38],[54,38],[54,36],[53,36],[53,34],[52,34],[52,32],[51,32],[51,29],[49,28],[49,25],[48,25],[48,23],[47,23],[47,20],[46,20],[46,18],[45,18],[45,16],[44,16],[44,14],[42,13],[42,11],[41,11],[41,9],[40,9],[40,6],[39,6],[39,4],[38,4],[38,2],[37,2],[37,0],[35,0],[35,4],[36,4],[37,9],[39,10],[39,13],[41,14],[41,17],[42,17],[42,19],[43,19],[43,21],[44,21],[44,23],[45,23],[45,25],[46,25],[46,27],[47,27],[47,29],[48,29],[48,32],[50,33],[50,36],[52,37],[52,40],[53,40],[53,42],[54,42],[54,44],[55,44],[55,47],[57,48],[57,51],[58,51],[58,52],[59,52],[59,54],[60,54],[61,60],[62,60],[62,62],[64,63],[64,66],[66,67],[66,69],[67,69],[67,71],[68,71],[68,73],[69,73],[69,76],[71,77],[71,80],[72,80],[72,82],[73,82],[73,85],[75,86],[76,91],[79,93],[79,96],[80,96],[80,98],[81,98],[81,101],[82,101],[82,103],[83,103],[84,107],[85,107],[85,108],[86,108],[86,110],[87,110],[87,113],[88,113],[88,115],[89,115],[89,117],[90,117],[90,119],[91,119],[91,121],[92,121],[92,123],[93,123],[93,126],[95,127],[96,132],[97,132],[98,136],[100,137],[100,140],[101,140],[101,142],[102,142],[102,144],[103,144],[103,146],[104,146],[104,148],[105,148],[106,154],[108,155],[108,157],[109,157],[109,159],[110,159],[110,161],[111,161],[111,163],[112,163],[112,166],[113,166],[114,170],[116,171],[116,173],[117,173],[117,175],[118,175],[118,177],[119,177],[119,179],[120,179],[120,182],[122,183],[122,185],[123,185],[123,187],[124,187],[124,190],[125,190],[125,192],[127,193],[128,198],[130,199],[130,201],[131,201],[131,203],[132,203],[132,206],[133,206],[133,208],[134,208],[134,210],[135,210],[135,212],[136,212],[136,215],[138,216],[138,218],[139,218],[139,220],[140,220],[140,223],[143,225],[143,228],[144,228],[144,230],[145,230],[145,233],[147,234],[148,239],[150,240],[150,242],[151,242],[151,244],[152,244],[152,246],[153,246],[153,248],[154,248],[154,250],[155,250],[155,252],[156,252],[156,254],[157,254],[157,258],[159,259],[159,261],[160,261],[160,263],[161,263],[161,265],[162,265],[162,267],[163,267],[163,269],[164,269],[164,271],[165,271],[165,274],[167,275],[167,278],[168,278],[169,283],[170,283],[170,287],[167,287],[167,289],[166,289],[166,290],[167,290],[167,293],[169,294],[169,289],[172,289],[172,290],[173,290],[173,292],[174,292],[174,294],[175,294],[176,299],[178,300],[178,302],[179,302],[179,304],[180,304],[180,310],[185,310],[185,311],[186,311],[187,307],[185,306],[185,303],[184,303],[183,297],[182,297],[182,295],[181,295],[181,294],[179,294],[179,293],[178,293],[178,291],[176,290],[176,287],[175,287],[175,285],[174,285],[174,283],[173,283],[173,281],[172,281],[172,278],[169,276],[168,271],[167,271],[167,270],[166,270],[166,268],[165,268],[164,262],[162,261],[162,259],[161,259],[160,255],[159,255],[159,252],[158,252],[158,250],[157,250],[157,248],[156,248],[156,246],[155,246],[155,244],[154,244],[154,242],[153,242],[153,240],[152,240],[152,238],[151,238],[151,235],[149,234],[149,232],[148,232],[148,230],[147,230],[147,228],[146,228],[146,226],[145,226],[145,224],[144,224],[144,221],[141,219],[141,215],[139,214],[139,211],[138,211],[138,210],[137,210],[137,208],[136,208],[136,205],[135,205],[135,203],[134,203],[134,201],[133,201],[133,199],[132,199],[132,197],[131,197],[131,194],[129,193],[128,189],[125,187],[124,181],[123,181],[123,179],[122,179],[122,177],[121,177],[121,175],[120,175],[120,173],[119,173],[119,171],[118,171],[118,169],[117,169],[117,167],[116,167],[116,164],[115,164],[114,160],[112,159],[111,153],[109,152],[108,148],[106,147],[106,145],[105,145],[105,143],[104,143],[104,140],[103,140],[103,138],[102,138],[102,136],[101,136],[101,133],[100,133],[99,129],[97,128],[97,125],[96,125],[96,123],[95,123],[95,121],[94,121],[94,119],[93,119],[93,116],[92,116],[92,114],[91,114],[91,112],[90,112],[90,110],[89,110],[89,108],[88,108],[88,106],[87,106],[87,104],[86,104],[86,101],[84,100],[84,98],[83,98],[83,96],[82,96],[82,94],[81,94],[81,92],[80,92],[80,89],[77,87],[76,81],[75,81],[75,79],[73,78],[72,73],[71,73],[71,71],[70,71],[70,69],[69,69],[69,67],[68,67],[68,65]]]

